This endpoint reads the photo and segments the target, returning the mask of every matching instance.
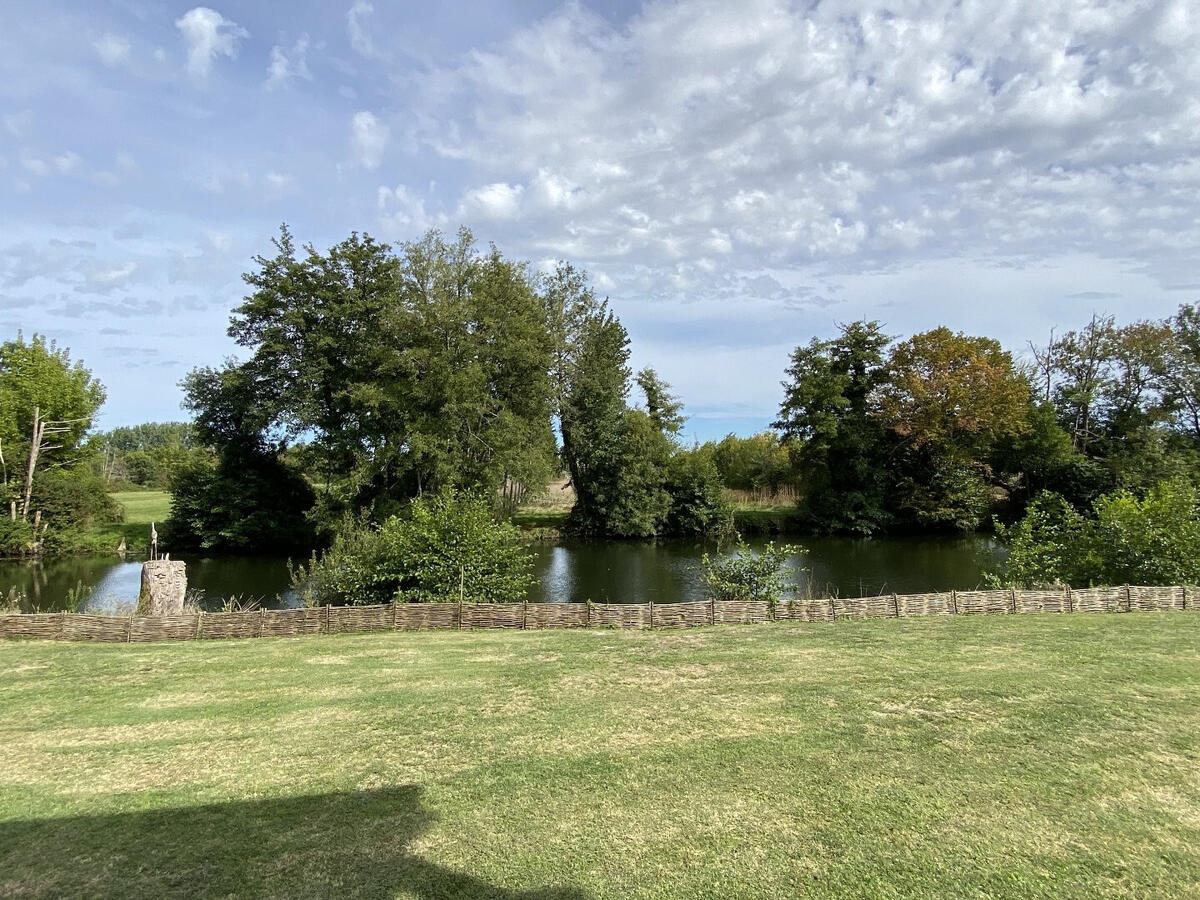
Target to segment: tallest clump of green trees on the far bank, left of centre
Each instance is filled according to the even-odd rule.
[[[727,521],[718,474],[678,445],[667,385],[647,370],[644,408],[626,404],[628,334],[571,266],[535,275],[494,247],[479,252],[467,230],[398,251],[352,234],[319,253],[284,228],[275,246],[244,276],[252,293],[230,322],[248,358],[185,382],[217,476],[180,469],[176,540],[232,546],[262,534],[232,534],[223,493],[284,494],[263,523],[292,540],[307,534],[301,518],[330,535],[346,515],[382,522],[446,488],[511,512],[523,486],[542,487],[560,466],[578,533],[702,533]],[[268,458],[276,473],[264,480]],[[294,470],[317,487],[308,506]]]

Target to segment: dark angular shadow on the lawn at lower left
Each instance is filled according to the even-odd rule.
[[[0,896],[406,896],[586,900],[427,862],[420,788],[0,822]]]

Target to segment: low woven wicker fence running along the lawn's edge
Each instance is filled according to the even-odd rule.
[[[1196,587],[1120,587],[1086,590],[950,590],[881,594],[779,604],[389,604],[324,606],[191,616],[91,616],[49,612],[0,616],[0,637],[59,641],[203,641],[426,629],[694,628],[778,619],[900,618],[907,616],[1015,616],[1033,612],[1195,610]]]

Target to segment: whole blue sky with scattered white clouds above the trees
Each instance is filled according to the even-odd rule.
[[[0,338],[102,428],[186,416],[282,222],[584,268],[701,440],[839,323],[1200,300],[1194,0],[212,1],[0,0]]]

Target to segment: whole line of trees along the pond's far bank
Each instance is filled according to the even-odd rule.
[[[689,446],[671,386],[632,372],[624,325],[569,264],[534,271],[466,229],[322,252],[284,227],[244,278],[240,356],[187,376],[187,424],[94,434],[86,368],[40,336],[0,346],[2,552],[113,517],[121,486],[170,490],[179,548],[306,551],[421,498],[505,518],[558,473],[566,529],[595,538],[727,533],[730,488],[875,535],[1018,522],[1046,492],[1094,518],[1105,497],[1196,480],[1195,306],[1092,317],[1027,360],[847,323],[794,349],[772,430]]]

